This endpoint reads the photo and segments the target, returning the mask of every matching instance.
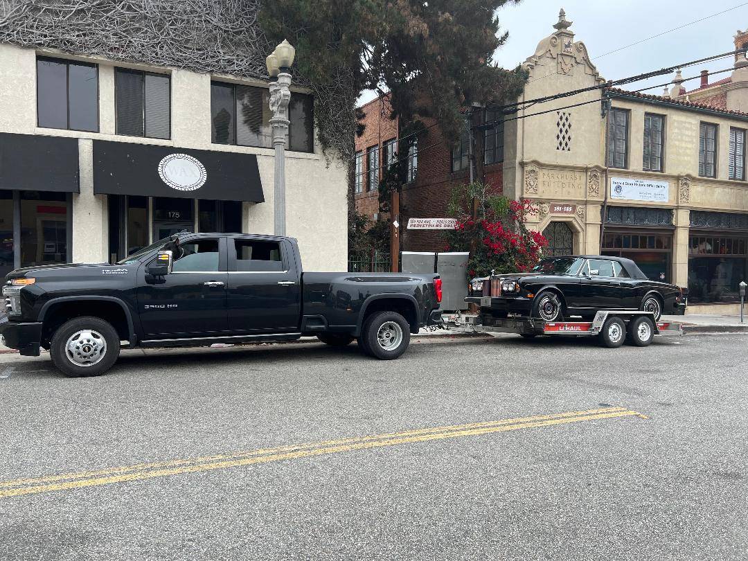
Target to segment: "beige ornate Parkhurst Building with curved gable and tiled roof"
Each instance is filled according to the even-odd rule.
[[[521,101],[605,82],[570,26],[562,11],[524,62]],[[735,311],[748,280],[748,61],[736,57],[711,97],[683,82],[666,96],[598,88],[507,116],[503,188],[533,200],[529,226],[550,251],[631,257],[688,286],[691,313]]]

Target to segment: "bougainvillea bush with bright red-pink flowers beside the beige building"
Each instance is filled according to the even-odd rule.
[[[478,203],[476,215],[474,200]],[[445,249],[470,251],[470,277],[528,271],[548,245],[541,233],[524,225],[525,216],[532,212],[536,211],[529,202],[504,197],[483,183],[458,186],[448,210],[457,219],[457,227],[444,233]]]

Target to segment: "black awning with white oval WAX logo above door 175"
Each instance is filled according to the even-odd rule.
[[[257,156],[93,141],[93,192],[262,203]]]

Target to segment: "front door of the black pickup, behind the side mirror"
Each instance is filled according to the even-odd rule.
[[[145,275],[148,263],[138,273],[138,310],[145,337],[188,339],[225,335],[228,284],[225,239],[187,239],[180,248],[182,255],[174,259],[168,275],[157,278]]]

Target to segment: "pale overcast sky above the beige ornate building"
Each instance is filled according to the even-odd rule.
[[[533,55],[539,41],[555,31],[551,26],[558,21],[561,7],[566,10],[566,19],[574,22],[571,25],[574,40],[586,45],[592,63],[608,80],[730,51],[735,48],[732,43],[735,32],[748,28],[748,2],[740,0],[522,0],[519,4],[506,4],[498,12],[502,30],[509,31],[509,40],[496,52],[494,60],[505,68],[514,68]],[[729,8],[735,9],[601,56]],[[729,67],[732,59],[723,58],[684,69],[683,76],[696,76],[703,69],[716,71]],[[672,76],[636,82],[625,88],[657,85],[668,82]],[[710,82],[727,76],[729,73],[714,76]],[[685,86],[692,90],[698,84],[696,79]],[[647,93],[660,94],[662,88]],[[372,92],[364,93],[361,102],[374,97]]]

